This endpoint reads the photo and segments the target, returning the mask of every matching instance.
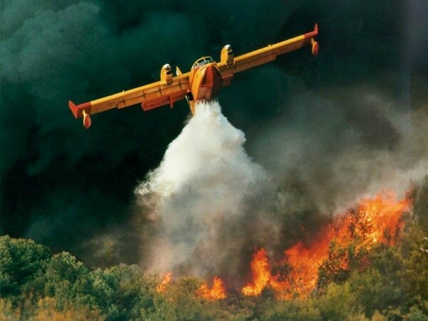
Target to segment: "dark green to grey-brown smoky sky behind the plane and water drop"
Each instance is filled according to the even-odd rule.
[[[317,58],[302,49],[220,93],[248,154],[274,176],[280,197],[265,191],[280,208],[272,213],[289,214],[277,242],[301,238],[295,226],[315,229],[320,213],[359,195],[384,185],[401,192],[427,168],[426,12],[422,0],[1,1],[0,233],[93,265],[139,262],[148,224],[133,215],[133,190],[188,107],[111,111],[85,131],[68,99],[141,86],[164,63],[184,71],[225,44],[241,54],[315,22]]]

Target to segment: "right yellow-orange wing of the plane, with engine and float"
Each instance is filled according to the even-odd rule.
[[[242,56],[237,56],[233,58],[233,51],[230,46],[225,46],[223,49],[225,51],[225,56],[221,62],[218,63],[218,69],[220,70],[221,76],[223,78],[223,86],[230,84],[230,81],[233,79],[233,74],[240,71],[244,71],[255,66],[259,66],[263,63],[275,60],[279,55],[286,54],[290,51],[295,51],[302,48],[302,46],[312,45],[312,54],[316,56],[318,54],[318,43],[315,41],[315,36],[318,34],[318,25],[315,24],[314,31],[311,31],[307,34],[297,36],[292,39],[288,39],[277,44],[266,46],[262,49],[251,51],[248,54],[243,54]]]

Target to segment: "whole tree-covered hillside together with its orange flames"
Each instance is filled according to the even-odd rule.
[[[0,318],[426,320],[427,199],[428,181],[402,200],[380,193],[335,215],[282,258],[255,248],[239,288],[221,275],[207,282],[157,277],[136,265],[90,270],[69,253],[2,236]]]

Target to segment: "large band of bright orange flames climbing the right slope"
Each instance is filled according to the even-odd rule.
[[[392,193],[384,192],[336,215],[310,245],[298,242],[285,250],[281,263],[270,265],[266,250],[256,250],[251,262],[253,280],[243,287],[243,294],[260,295],[270,287],[282,300],[306,297],[320,284],[320,270],[322,282],[340,279],[350,265],[367,265],[367,253],[374,245],[392,245],[404,226],[402,214],[410,208],[409,199],[395,200]],[[272,267],[281,272],[271,272]]]

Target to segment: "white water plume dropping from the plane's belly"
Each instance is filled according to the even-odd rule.
[[[198,103],[161,165],[136,188],[153,222],[145,265],[207,276],[238,268],[245,246],[275,240],[275,220],[262,205],[270,181],[244,143],[218,102]]]

